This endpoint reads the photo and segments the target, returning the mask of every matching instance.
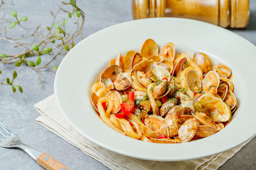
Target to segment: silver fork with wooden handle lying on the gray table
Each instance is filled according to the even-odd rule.
[[[20,148],[24,150],[28,155],[30,155],[36,162],[44,167],[45,169],[49,170],[70,170],[68,167],[63,166],[60,162],[53,159],[50,155],[46,153],[39,152],[34,148],[31,148],[28,145],[25,145],[20,141],[20,139],[13,134],[9,129],[7,129],[3,124],[0,122],[0,146],[4,148]]]

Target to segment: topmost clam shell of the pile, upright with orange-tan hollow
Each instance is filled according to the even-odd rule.
[[[159,48],[157,43],[153,39],[147,39],[141,48],[142,57],[148,58],[154,55],[158,55]]]

